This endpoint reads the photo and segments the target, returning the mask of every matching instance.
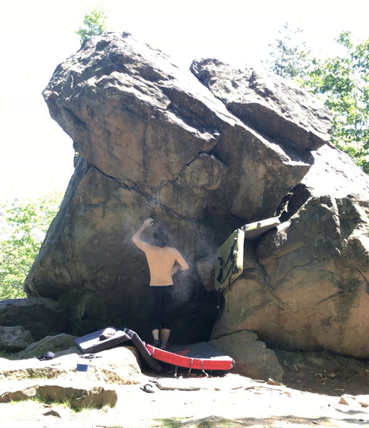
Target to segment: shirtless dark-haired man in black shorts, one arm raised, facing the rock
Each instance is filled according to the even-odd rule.
[[[165,228],[156,228],[153,234],[155,245],[141,239],[145,229],[150,228],[154,220],[147,218],[140,229],[132,236],[132,241],[147,258],[150,270],[150,287],[147,295],[147,312],[154,337],[155,347],[163,350],[167,347],[173,317],[173,280],[178,270],[187,270],[188,265],[181,253],[168,247],[168,235]],[[160,331],[161,330],[161,331]],[[161,342],[159,334],[161,333]]]

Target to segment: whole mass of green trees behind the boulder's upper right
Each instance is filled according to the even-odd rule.
[[[369,173],[369,39],[354,45],[350,33],[336,40],[343,53],[328,59],[309,59],[306,44],[298,42],[301,30],[289,24],[270,44],[266,65],[284,78],[292,78],[331,109],[331,142]]]

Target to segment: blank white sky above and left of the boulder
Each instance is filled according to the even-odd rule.
[[[331,55],[341,31],[369,37],[368,0],[8,0],[0,26],[0,203],[66,189],[72,141],[41,92],[58,63],[79,49],[75,31],[99,3],[110,29],[129,31],[187,67],[204,57],[256,63],[286,22],[303,30],[317,56]]]

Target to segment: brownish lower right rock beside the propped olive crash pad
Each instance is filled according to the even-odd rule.
[[[227,297],[232,310],[212,335],[252,330],[270,347],[368,358],[367,178],[331,148],[314,156],[281,204],[285,221],[256,248],[246,247],[244,272]]]

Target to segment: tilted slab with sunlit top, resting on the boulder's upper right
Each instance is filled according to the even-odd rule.
[[[311,151],[328,143],[331,114],[293,82],[214,59],[193,61],[191,70],[234,116],[283,146]]]

